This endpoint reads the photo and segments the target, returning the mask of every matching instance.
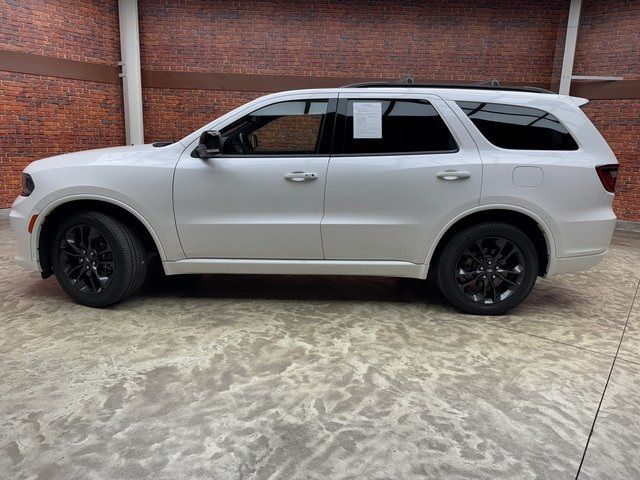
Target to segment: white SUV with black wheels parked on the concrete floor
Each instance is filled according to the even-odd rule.
[[[76,301],[167,275],[433,278],[475,314],[604,256],[617,161],[533,88],[360,84],[267,95],[180,141],[71,153],[23,174],[17,260]]]

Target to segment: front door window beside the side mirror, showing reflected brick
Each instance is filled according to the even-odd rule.
[[[326,113],[326,100],[296,100],[260,108],[222,130],[223,153],[316,153]]]

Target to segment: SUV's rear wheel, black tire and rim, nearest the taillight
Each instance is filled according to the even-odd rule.
[[[529,237],[500,222],[458,232],[435,265],[436,283],[447,300],[474,315],[500,315],[518,306],[538,276],[538,255]]]

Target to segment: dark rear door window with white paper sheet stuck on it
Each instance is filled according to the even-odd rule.
[[[364,129],[356,126],[354,131],[353,111],[354,104],[358,103],[373,107],[370,119],[374,125]],[[356,106],[356,110],[363,111],[362,106]],[[377,126],[381,126],[377,132],[375,115]],[[451,152],[457,148],[446,124],[426,101],[363,99],[347,103],[344,153]]]

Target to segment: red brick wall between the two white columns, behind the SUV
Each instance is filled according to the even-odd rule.
[[[565,3],[140,0],[140,54],[143,70],[546,82]],[[180,138],[259,95],[145,88],[145,135]]]

